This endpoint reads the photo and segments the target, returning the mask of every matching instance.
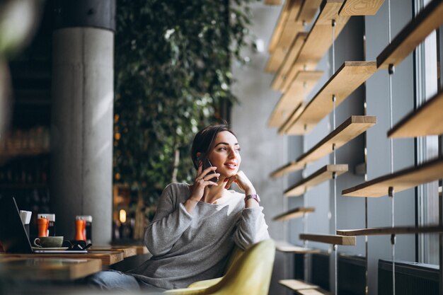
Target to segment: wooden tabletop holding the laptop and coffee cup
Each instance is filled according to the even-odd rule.
[[[33,254],[13,254],[0,253],[0,261],[4,258],[73,258],[73,259],[99,259],[102,265],[113,265],[125,259],[125,253],[121,250],[94,250],[88,253],[33,253]]]

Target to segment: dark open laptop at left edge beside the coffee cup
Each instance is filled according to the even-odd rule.
[[[6,253],[88,253],[87,250],[49,250],[33,248],[20,218],[16,199],[0,199],[0,242]]]

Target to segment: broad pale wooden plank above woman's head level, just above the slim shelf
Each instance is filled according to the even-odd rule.
[[[320,91],[306,105],[297,120],[287,129],[287,134],[306,134],[347,98],[376,71],[376,62],[345,62]]]

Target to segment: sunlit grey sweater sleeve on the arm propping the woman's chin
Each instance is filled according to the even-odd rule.
[[[263,207],[245,208],[237,221],[234,242],[241,249],[270,238]]]

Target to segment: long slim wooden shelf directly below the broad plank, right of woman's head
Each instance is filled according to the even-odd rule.
[[[306,163],[316,161],[319,158],[323,158],[323,156],[332,153],[333,144],[335,144],[335,149],[339,149],[340,146],[351,141],[375,124],[375,116],[351,116],[343,122],[342,125],[338,126],[333,132],[318,142],[318,144],[313,146],[313,148],[299,156],[296,161],[287,163],[281,168],[277,168],[277,170],[271,173],[271,177],[280,177],[286,173],[304,168]]]

